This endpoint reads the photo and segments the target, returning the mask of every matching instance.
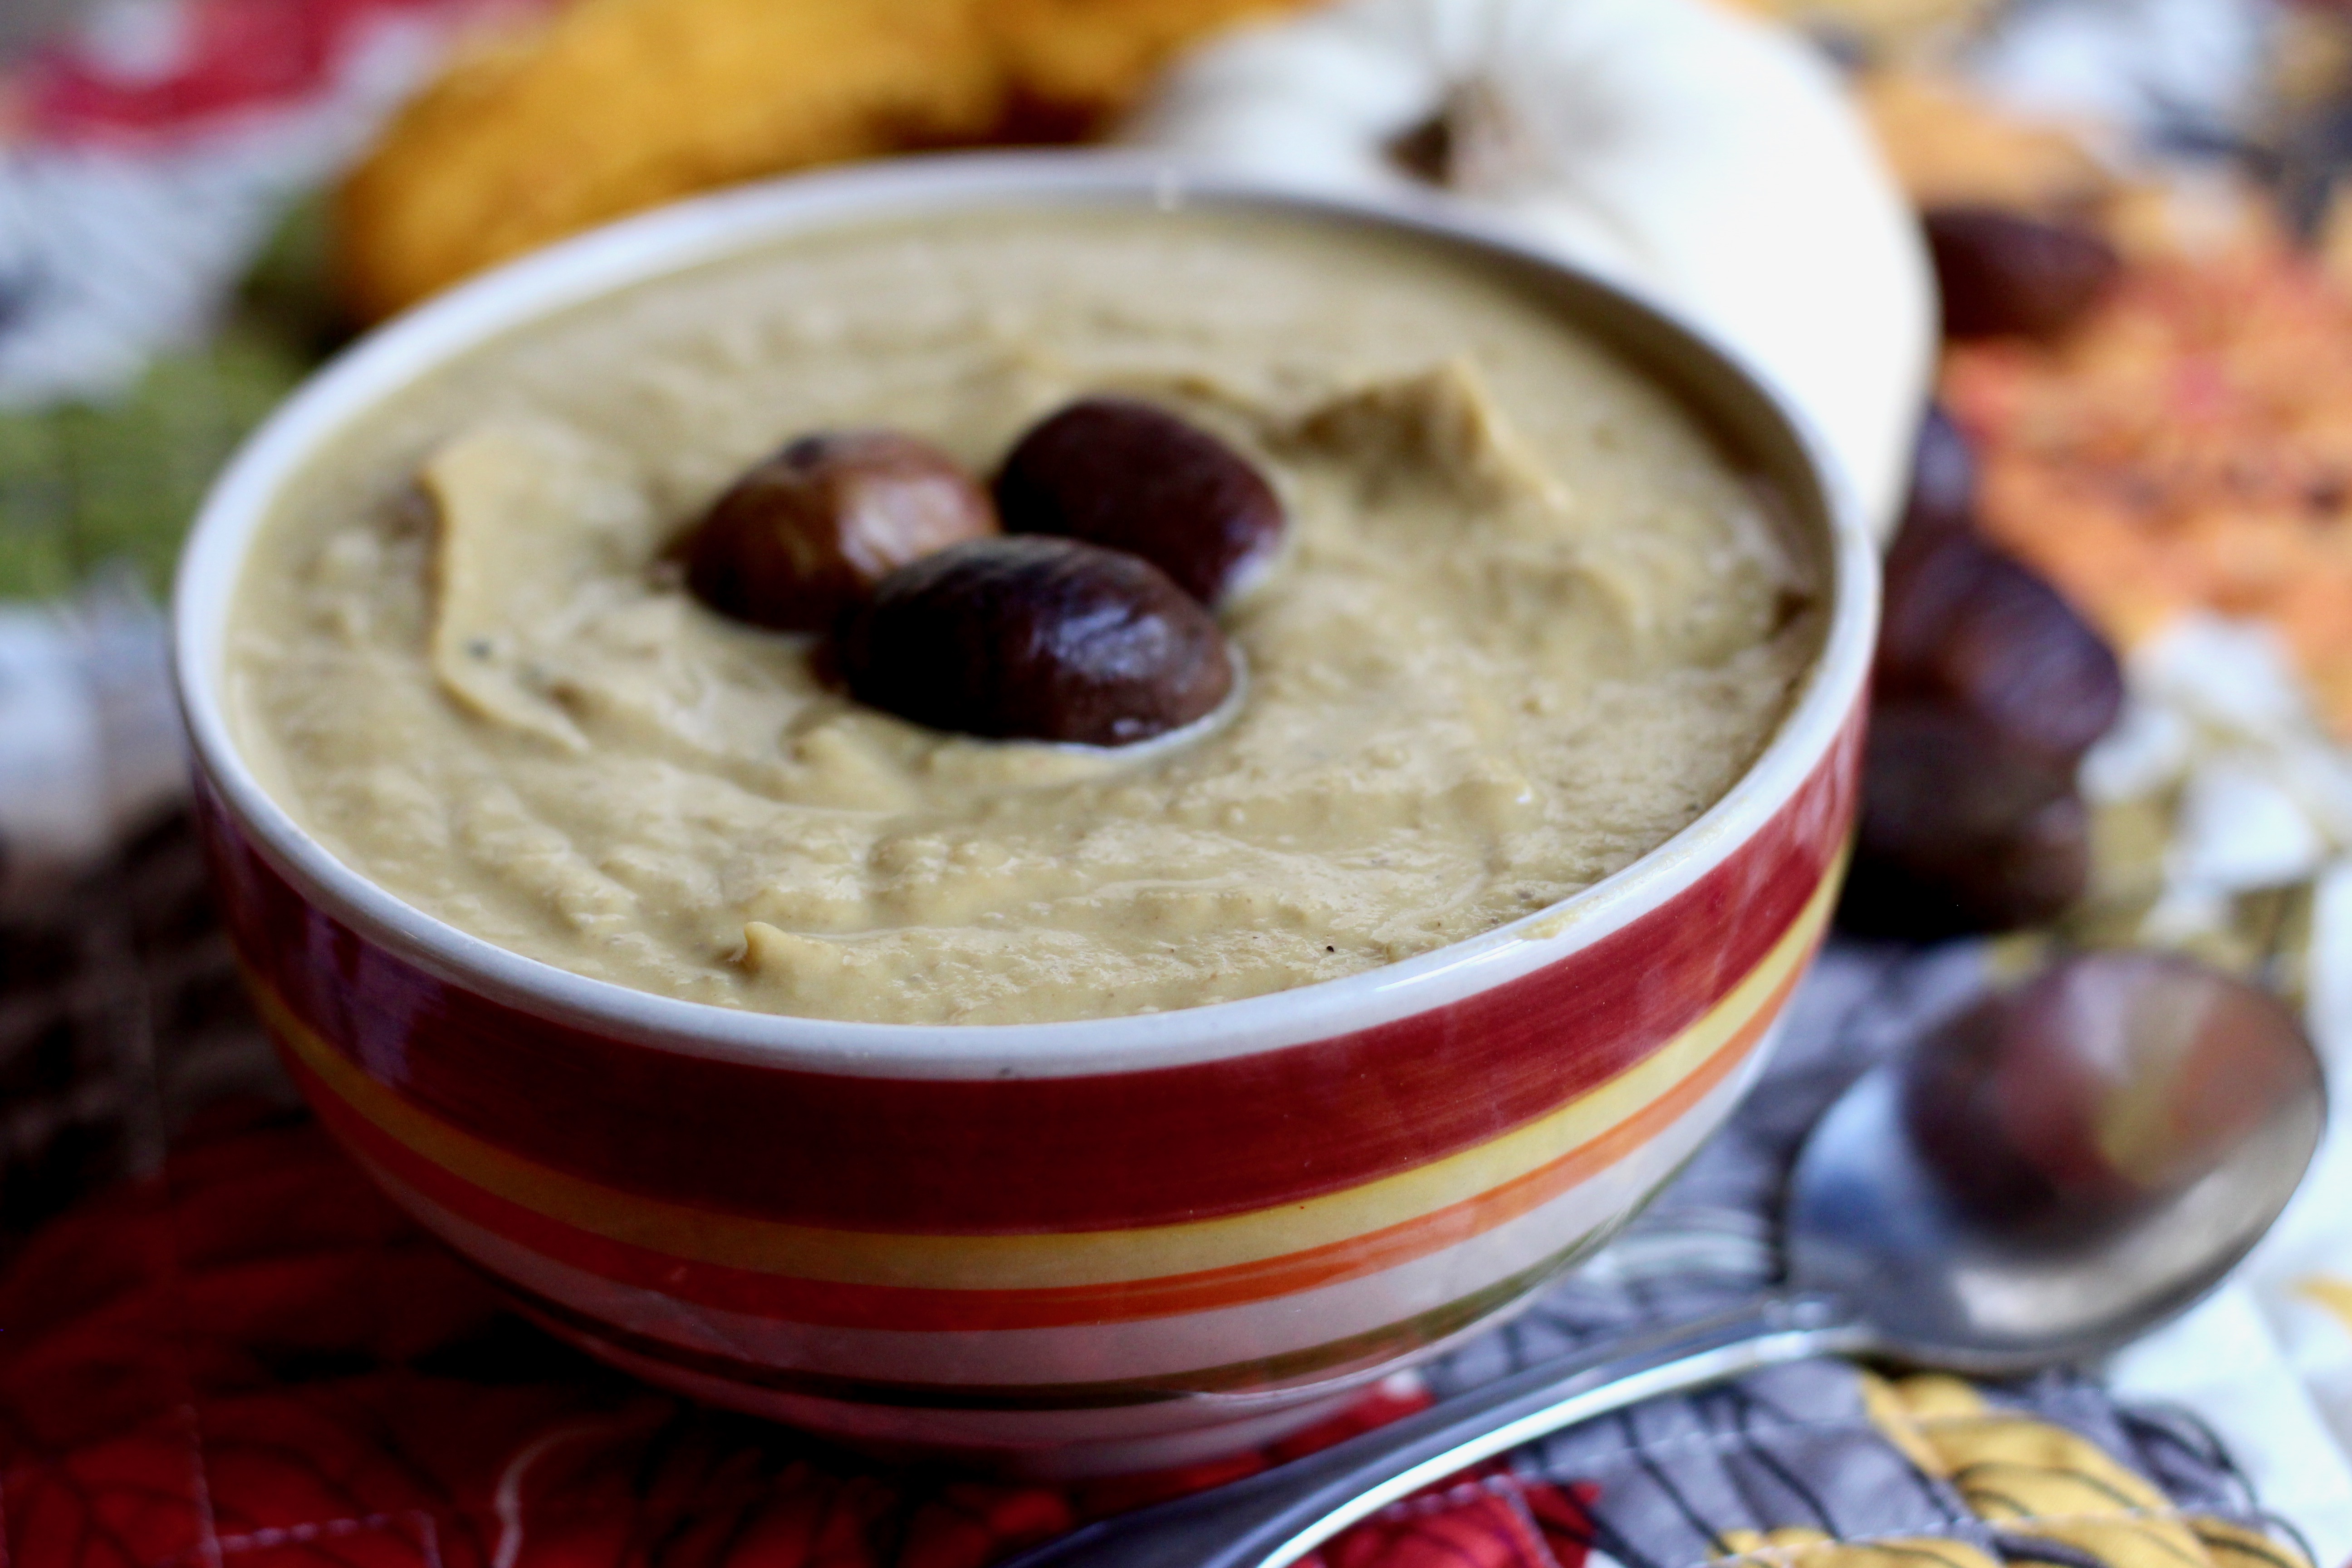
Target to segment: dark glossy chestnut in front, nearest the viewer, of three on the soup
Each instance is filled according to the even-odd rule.
[[[1131,745],[1232,691],[1225,635],[1150,562],[976,538],[901,567],[842,625],[849,693],[971,736]]]

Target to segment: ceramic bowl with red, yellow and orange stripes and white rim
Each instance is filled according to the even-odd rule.
[[[1519,270],[1679,390],[1832,559],[1820,663],[1755,769],[1604,884],[1249,1001],[1030,1027],[849,1025],[515,957],[334,860],[240,757],[223,632],[278,491],[452,357],[830,223],[1197,202],[1404,226]],[[1030,1469],[1200,1458],[1524,1302],[1724,1119],[1820,940],[1853,820],[1877,564],[1813,447],[1693,331],[1411,209],[1030,155],[786,181],[590,235],[376,334],[221,480],[179,581],[205,830],[303,1093],[548,1328],[851,1441]]]

